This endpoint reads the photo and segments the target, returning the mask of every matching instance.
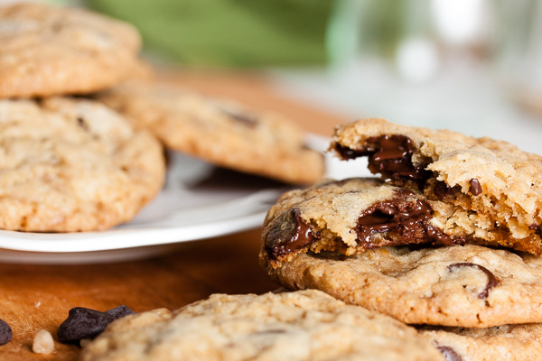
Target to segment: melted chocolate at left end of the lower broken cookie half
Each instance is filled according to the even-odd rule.
[[[297,251],[320,237],[299,213],[299,209],[293,208],[276,218],[266,236],[266,250],[271,258]]]

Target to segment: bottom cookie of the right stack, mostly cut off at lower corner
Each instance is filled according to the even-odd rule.
[[[542,358],[542,325],[504,325],[489,329],[422,327],[449,361],[523,361]]]

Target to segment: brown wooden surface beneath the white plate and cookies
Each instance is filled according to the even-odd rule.
[[[206,94],[232,97],[292,117],[305,129],[331,135],[345,120],[276,96],[257,74],[179,72],[168,75]],[[109,310],[126,304],[136,312],[177,309],[211,293],[262,293],[276,289],[257,264],[261,229],[188,242],[174,253],[116,263],[80,265],[0,264],[0,318],[14,338],[0,346],[0,360],[76,360],[80,348],[56,341],[72,307]],[[34,354],[33,336],[51,332],[55,351]]]

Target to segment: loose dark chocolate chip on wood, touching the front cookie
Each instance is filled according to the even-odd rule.
[[[118,306],[105,312],[74,307],[68,313],[68,319],[61,323],[57,337],[61,342],[79,341],[82,338],[95,338],[115,319],[134,314],[126,306]]]

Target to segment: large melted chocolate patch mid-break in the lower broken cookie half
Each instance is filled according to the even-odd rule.
[[[398,190],[395,199],[375,203],[363,211],[355,227],[360,245],[368,248],[380,246],[374,243],[372,236],[384,232],[390,233],[386,245],[455,245],[464,242],[431,225],[429,220],[433,208],[423,199],[407,199],[413,195],[411,190]]]

